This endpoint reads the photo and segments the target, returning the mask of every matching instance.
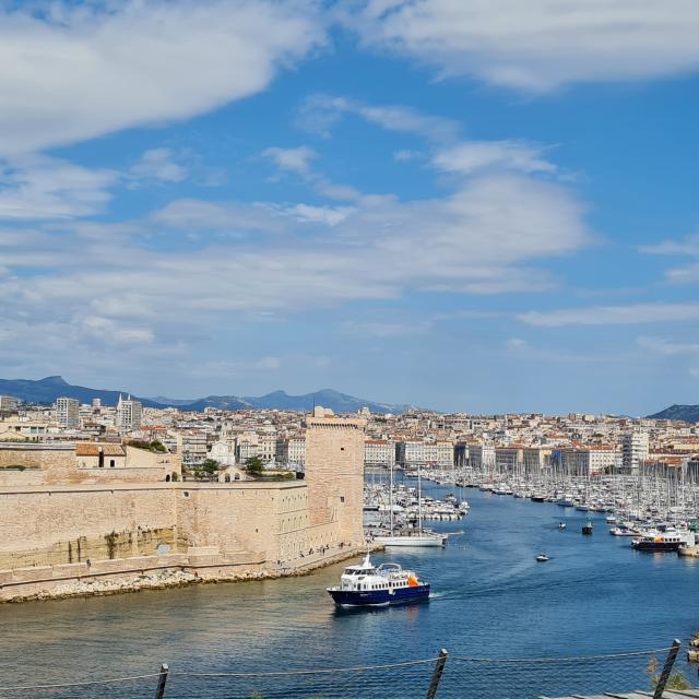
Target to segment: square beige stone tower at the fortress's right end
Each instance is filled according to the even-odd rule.
[[[364,419],[317,407],[306,419],[306,483],[310,523],[337,522],[337,541],[360,546],[364,494]]]

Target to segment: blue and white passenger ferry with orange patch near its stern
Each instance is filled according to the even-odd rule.
[[[328,593],[340,606],[387,606],[425,602],[429,599],[429,583],[399,564],[375,568],[367,554],[360,565],[345,568],[340,584],[328,588]]]

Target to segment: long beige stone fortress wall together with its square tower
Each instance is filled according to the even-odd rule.
[[[279,574],[358,550],[363,427],[317,410],[306,477],[282,482],[173,481],[175,455],[139,449],[123,466],[94,467],[74,448],[3,445],[0,601],[149,570]]]

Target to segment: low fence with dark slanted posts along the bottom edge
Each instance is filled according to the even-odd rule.
[[[674,666],[678,648],[674,641],[670,648],[609,655],[529,659],[467,657],[442,650],[403,663],[289,672],[204,673],[163,665],[151,674],[112,679],[0,686],[0,698],[533,699],[643,690],[648,699],[660,699],[664,690],[694,684],[686,668]]]

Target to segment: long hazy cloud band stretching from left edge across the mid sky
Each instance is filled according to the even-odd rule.
[[[441,199],[363,198],[352,210],[177,200],[125,224],[27,232],[36,246],[0,227],[3,318],[24,315],[40,328],[60,308],[66,322],[104,319],[97,330],[120,330],[125,341],[146,341],[139,331],[147,328],[162,346],[173,332],[205,333],[222,318],[396,298],[407,288],[531,291],[546,283],[536,261],[587,245],[582,215],[556,183],[487,177]],[[258,242],[248,232],[283,235]],[[188,245],[174,245],[174,234]],[[35,247],[47,270],[27,284],[20,271],[37,263]]]

